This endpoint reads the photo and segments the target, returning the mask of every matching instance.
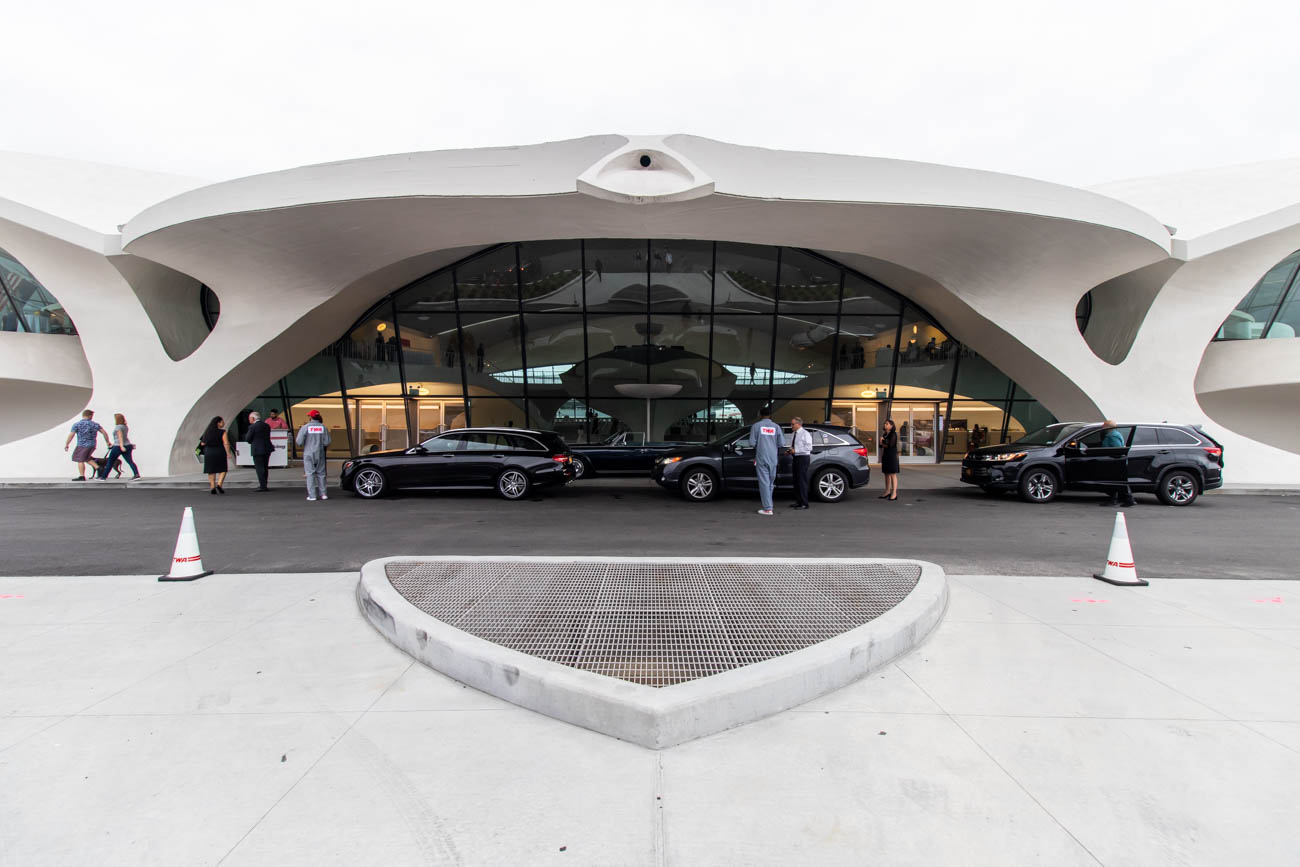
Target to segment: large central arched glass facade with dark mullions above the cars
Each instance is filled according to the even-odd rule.
[[[863,274],[802,250],[660,239],[485,250],[385,298],[250,408],[295,424],[320,409],[348,455],[467,425],[699,442],[768,402],[781,421],[855,428],[874,458],[892,413],[918,461],[1052,420]]]

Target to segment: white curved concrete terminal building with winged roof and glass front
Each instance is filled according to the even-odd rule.
[[[248,407],[320,408],[343,455],[698,439],[771,399],[872,448],[893,415],[918,461],[1202,424],[1228,484],[1300,484],[1300,160],[1078,190],[604,135],[205,186],[5,153],[0,250],[9,477],[66,477],[87,406],[160,476]]]

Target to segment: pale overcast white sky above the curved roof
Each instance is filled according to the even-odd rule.
[[[0,148],[222,179],[692,133],[1071,185],[1300,156],[1300,4],[8,4]]]

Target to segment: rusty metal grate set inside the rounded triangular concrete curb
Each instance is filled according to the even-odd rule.
[[[478,638],[646,686],[793,653],[861,627],[910,563],[429,560],[386,565],[408,602]]]

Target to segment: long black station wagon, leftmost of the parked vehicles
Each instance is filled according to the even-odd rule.
[[[395,490],[491,489],[523,499],[534,487],[573,481],[573,456],[558,434],[519,428],[462,428],[413,448],[343,463],[341,485],[373,499]]]

